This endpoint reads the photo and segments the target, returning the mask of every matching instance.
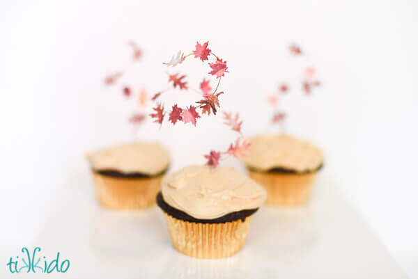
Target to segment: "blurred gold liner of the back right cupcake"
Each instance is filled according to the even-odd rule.
[[[268,205],[300,205],[311,197],[316,173],[263,173],[248,170],[249,177],[264,186]]]

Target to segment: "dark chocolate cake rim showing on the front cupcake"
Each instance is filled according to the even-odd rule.
[[[258,210],[258,208],[245,209],[245,210],[240,210],[239,212],[232,212],[232,213],[226,214],[224,216],[221,216],[215,219],[196,219],[190,216],[189,214],[182,212],[181,210],[171,207],[171,205],[169,205],[167,202],[164,201],[164,199],[162,198],[161,192],[158,193],[157,195],[157,205],[162,209],[162,211],[169,214],[173,218],[177,218],[177,219],[191,222],[191,223],[208,223],[208,224],[226,223],[226,222],[233,222],[237,220],[245,221],[245,218],[254,214],[254,212]]]

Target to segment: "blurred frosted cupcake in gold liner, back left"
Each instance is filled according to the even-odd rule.
[[[86,155],[103,207],[144,209],[155,203],[169,167],[169,152],[156,142],[117,145]]]

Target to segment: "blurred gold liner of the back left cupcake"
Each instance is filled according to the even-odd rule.
[[[155,177],[111,177],[93,172],[95,191],[103,207],[144,209],[155,204],[163,175]]]

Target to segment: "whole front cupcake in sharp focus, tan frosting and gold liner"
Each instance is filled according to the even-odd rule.
[[[173,246],[185,255],[229,257],[244,245],[263,187],[235,168],[187,166],[164,177],[157,205]]]

